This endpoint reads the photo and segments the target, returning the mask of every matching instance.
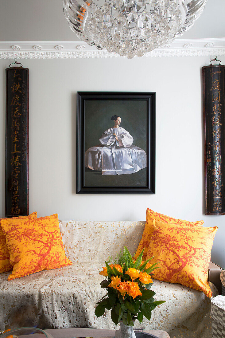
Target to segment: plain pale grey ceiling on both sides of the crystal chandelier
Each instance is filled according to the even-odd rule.
[[[208,0],[203,14],[180,39],[225,37],[225,0]],[[0,41],[76,41],[62,0],[0,0]]]

